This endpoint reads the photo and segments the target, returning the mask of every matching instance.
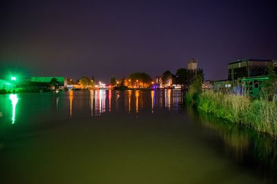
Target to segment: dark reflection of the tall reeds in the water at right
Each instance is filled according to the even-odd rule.
[[[193,121],[198,121],[205,129],[217,133],[222,140],[224,154],[236,163],[249,168],[258,168],[257,174],[269,178],[266,183],[276,180],[277,144],[270,136],[252,131],[247,127],[224,122],[191,108],[188,108],[188,114]],[[206,136],[209,135],[211,134]]]

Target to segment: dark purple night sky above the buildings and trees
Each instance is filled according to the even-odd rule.
[[[0,74],[127,77],[186,68],[226,79],[227,64],[277,58],[274,1],[0,2]]]

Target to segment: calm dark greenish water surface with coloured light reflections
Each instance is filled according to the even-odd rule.
[[[180,91],[0,96],[0,183],[277,183],[276,143]]]

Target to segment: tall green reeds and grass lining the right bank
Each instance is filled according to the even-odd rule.
[[[186,94],[186,101],[197,109],[231,123],[240,123],[277,139],[277,105],[275,101],[250,99],[248,96],[223,94],[208,90]]]

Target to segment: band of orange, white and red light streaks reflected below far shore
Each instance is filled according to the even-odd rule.
[[[90,90],[89,92],[69,91],[69,116],[75,110],[84,110],[85,103],[89,105],[90,116],[98,116],[109,112],[135,112],[140,110],[150,110],[154,113],[155,109],[178,110],[182,103],[183,94],[175,90]],[[73,103],[74,99],[74,103]],[[60,103],[56,99],[57,103]],[[84,103],[84,104],[83,104]],[[85,112],[85,111],[84,111]]]

